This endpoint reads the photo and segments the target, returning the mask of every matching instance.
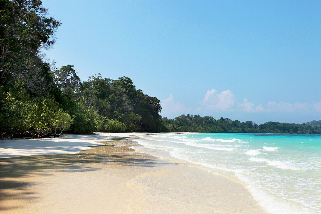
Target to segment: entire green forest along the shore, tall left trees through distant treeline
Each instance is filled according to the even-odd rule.
[[[93,74],[81,81],[72,65],[56,68],[44,52],[53,48],[60,24],[39,0],[0,0],[1,138],[125,131],[321,133],[321,121],[257,125],[189,114],[161,118],[160,100],[136,89],[128,77]]]

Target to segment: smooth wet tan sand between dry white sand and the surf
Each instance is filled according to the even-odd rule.
[[[125,138],[77,154],[0,159],[0,213],[265,213],[239,183],[138,153]]]

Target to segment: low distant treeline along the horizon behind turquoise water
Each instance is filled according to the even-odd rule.
[[[321,120],[307,123],[240,122],[229,118],[215,120],[211,116],[183,114],[175,119],[162,118],[169,132],[230,132],[230,133],[306,133],[321,134]]]

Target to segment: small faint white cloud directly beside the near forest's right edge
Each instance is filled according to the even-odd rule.
[[[175,103],[172,94],[169,94],[169,98],[162,100],[160,104],[162,107],[162,115],[174,114],[174,116],[179,116],[183,112],[185,113],[187,110],[190,110],[190,108],[187,109],[183,104],[180,104],[179,102]]]

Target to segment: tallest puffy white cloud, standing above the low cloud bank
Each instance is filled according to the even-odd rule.
[[[218,91],[214,88],[204,96],[201,101],[202,106],[211,111],[227,111],[231,110],[235,103],[235,96],[230,90],[222,91],[218,94]]]

